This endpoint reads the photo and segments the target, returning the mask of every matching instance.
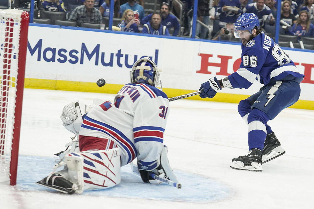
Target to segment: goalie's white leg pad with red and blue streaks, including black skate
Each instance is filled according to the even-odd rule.
[[[36,184],[68,194],[106,189],[120,183],[120,164],[119,148],[69,153]]]

